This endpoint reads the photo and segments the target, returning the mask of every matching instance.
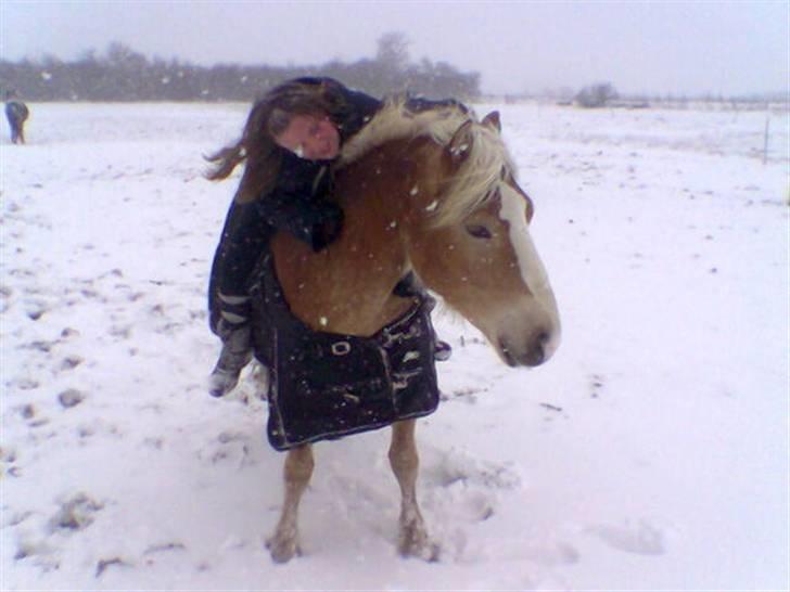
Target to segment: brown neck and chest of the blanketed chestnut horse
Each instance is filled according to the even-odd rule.
[[[272,242],[285,299],[313,329],[371,335],[411,306],[392,289],[410,271],[409,226],[429,198],[415,180],[419,167],[432,166],[430,144],[392,142],[340,171],[345,226],[328,248],[313,253],[283,233]]]

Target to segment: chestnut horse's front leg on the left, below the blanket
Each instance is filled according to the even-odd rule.
[[[297,526],[300,500],[310,481],[314,465],[310,445],[300,446],[288,451],[284,467],[285,500],[282,504],[282,514],[280,514],[277,530],[267,541],[271,558],[277,563],[285,563],[301,553]]]

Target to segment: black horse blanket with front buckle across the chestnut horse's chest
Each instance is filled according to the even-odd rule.
[[[269,368],[267,435],[277,450],[433,413],[430,300],[372,337],[315,332],[296,319],[266,257],[252,288],[255,357]]]

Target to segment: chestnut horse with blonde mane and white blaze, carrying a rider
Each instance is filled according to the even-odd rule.
[[[410,306],[393,287],[409,272],[490,342],[509,366],[553,353],[560,321],[530,236],[533,203],[515,180],[499,115],[458,105],[412,113],[388,102],[344,146],[334,198],[340,239],[314,253],[275,236],[275,269],[293,314],[315,331],[370,336]],[[402,492],[398,551],[436,559],[416,494],[416,420],[392,425],[390,463]],[[300,553],[297,511],[314,468],[309,443],[288,451],[285,499],[268,546],[273,561]]]

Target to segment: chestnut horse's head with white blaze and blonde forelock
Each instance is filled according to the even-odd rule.
[[[417,144],[404,232],[411,267],[508,365],[538,365],[559,344],[560,320],[530,235],[532,201],[515,181],[498,114],[457,124]]]

